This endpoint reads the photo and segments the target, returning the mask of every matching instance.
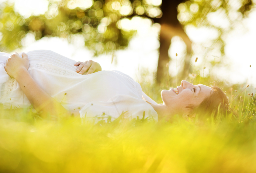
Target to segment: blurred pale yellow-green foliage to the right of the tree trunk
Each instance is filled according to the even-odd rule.
[[[252,8],[253,0],[190,0],[178,5],[177,18],[184,26],[204,26],[217,31],[218,37],[212,43],[218,45],[224,55],[227,33],[247,17]]]

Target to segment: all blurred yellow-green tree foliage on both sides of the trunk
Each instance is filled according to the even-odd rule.
[[[133,16],[161,18],[161,0],[49,0],[44,15],[24,18],[14,11],[14,5],[7,1],[0,7],[1,51],[10,52],[22,46],[21,40],[27,33],[36,39],[57,36],[71,39],[82,36],[85,46],[96,54],[123,49],[136,30],[122,27],[122,19]],[[177,7],[179,22],[196,27],[214,28],[218,37],[214,43],[221,46],[224,54],[224,38],[236,22],[247,16],[254,3],[252,0],[190,0]],[[227,22],[223,25],[211,22],[213,15],[219,15]],[[126,21],[127,22],[127,21]],[[129,25],[129,24],[127,24]]]

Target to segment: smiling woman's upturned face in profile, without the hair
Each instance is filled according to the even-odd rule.
[[[162,90],[161,97],[171,114],[188,114],[189,110],[186,107],[189,104],[199,105],[210,95],[211,89],[202,84],[193,85],[182,80],[177,88]]]

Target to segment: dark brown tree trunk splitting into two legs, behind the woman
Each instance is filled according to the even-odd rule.
[[[154,22],[161,24],[161,32],[160,32],[160,48],[159,48],[159,59],[157,66],[157,82],[161,83],[161,81],[167,76],[167,68],[166,63],[170,61],[170,57],[168,56],[168,50],[171,44],[171,38],[173,36],[180,36],[185,44],[187,45],[187,55],[184,61],[183,71],[181,73],[181,77],[185,78],[189,73],[190,67],[190,54],[191,54],[191,45],[187,34],[184,32],[182,25],[179,23],[177,19],[177,6],[185,2],[185,0],[163,0],[161,5],[161,10],[163,12],[163,16],[160,19],[153,19]]]

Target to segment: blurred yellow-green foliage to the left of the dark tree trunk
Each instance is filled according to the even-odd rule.
[[[160,3],[159,3],[160,2]],[[5,2],[0,11],[1,51],[21,47],[21,39],[33,33],[36,39],[57,36],[70,39],[82,36],[85,46],[103,53],[123,49],[136,33],[122,28],[122,19],[134,15],[161,17],[161,0],[62,0],[49,1],[44,15],[25,19],[14,11],[14,5]]]

